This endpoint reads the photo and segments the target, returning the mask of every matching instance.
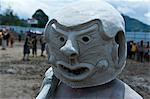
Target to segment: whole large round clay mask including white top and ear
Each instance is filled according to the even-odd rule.
[[[45,28],[54,75],[72,88],[115,79],[126,62],[124,33],[123,18],[106,2],[66,5]]]

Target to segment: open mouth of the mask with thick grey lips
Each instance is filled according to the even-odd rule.
[[[88,63],[78,63],[71,65],[63,61],[58,61],[57,63],[58,72],[62,74],[68,80],[79,81],[87,78],[94,66]]]

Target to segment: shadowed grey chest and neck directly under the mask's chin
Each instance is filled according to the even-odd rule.
[[[75,89],[61,83],[56,90],[55,99],[123,99],[124,92],[124,83],[117,79],[104,85]]]

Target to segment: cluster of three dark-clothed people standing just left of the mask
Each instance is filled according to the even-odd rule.
[[[30,49],[32,49],[32,56],[37,57],[37,43],[41,45],[41,56],[44,57],[43,52],[45,51],[45,39],[43,35],[32,34],[31,32],[26,33],[25,42],[23,46],[23,60],[29,61]]]

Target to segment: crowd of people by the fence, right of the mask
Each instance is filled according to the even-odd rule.
[[[145,62],[150,61],[150,45],[149,41],[127,42],[127,57],[136,61]]]

